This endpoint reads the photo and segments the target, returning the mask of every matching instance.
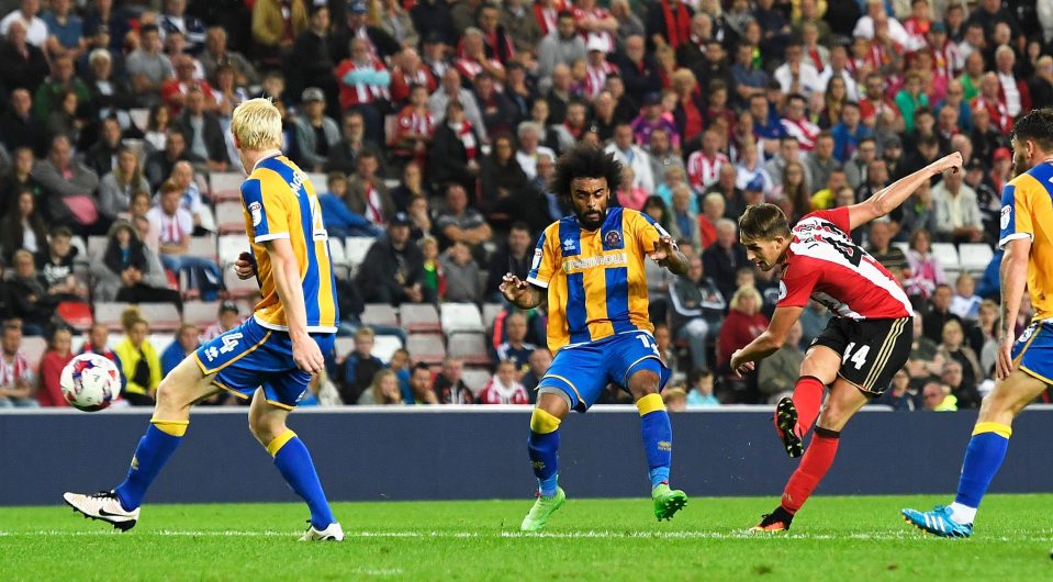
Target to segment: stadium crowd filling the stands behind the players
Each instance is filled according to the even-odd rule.
[[[545,313],[512,310],[497,286],[525,278],[537,234],[569,212],[548,179],[580,142],[623,163],[610,203],[654,217],[690,258],[685,278],[649,271],[671,410],[774,402],[829,317],[814,302],[758,373],[732,377],[780,293],[738,243],[748,204],[797,220],[962,152],[966,171],[853,237],[917,310],[910,361],[880,402],[970,408],[992,387],[1008,136],[1053,105],[1053,0],[0,10],[0,407],[64,405],[58,374],[81,350],[120,362],[125,400],[148,405],[175,362],[249,315],[216,236],[244,237],[229,115],[256,96],[282,111],[284,150],[340,250],[345,342],[303,404],[531,402],[551,361]],[[104,303],[139,309],[104,317]],[[158,325],[153,304],[176,316]],[[433,320],[407,323],[428,305]],[[451,332],[447,310],[466,305],[481,325]],[[46,351],[23,349],[34,336]]]

